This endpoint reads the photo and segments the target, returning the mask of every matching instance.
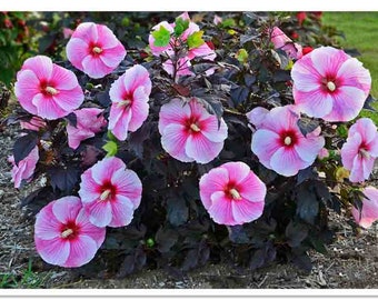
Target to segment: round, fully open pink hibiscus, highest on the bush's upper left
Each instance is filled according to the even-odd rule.
[[[92,22],[78,26],[66,51],[68,60],[91,78],[111,73],[126,57],[125,47],[113,32]]]

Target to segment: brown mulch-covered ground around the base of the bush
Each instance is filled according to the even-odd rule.
[[[347,224],[349,217],[332,214],[337,239],[328,254],[311,252],[314,269],[308,274],[292,264],[272,264],[247,271],[227,264],[208,264],[182,280],[161,270],[142,270],[126,279],[82,279],[69,269],[49,267],[33,246],[33,221],[20,210],[20,199],[33,187],[13,188],[10,164],[17,128],[0,128],[0,283],[12,276],[14,288],[115,288],[115,289],[342,289],[378,288],[378,224],[357,234]],[[36,187],[34,187],[36,188]],[[31,261],[31,264],[30,264]],[[28,268],[31,267],[29,272]],[[2,279],[1,279],[2,278]],[[1,287],[1,286],[0,286]],[[2,286],[9,287],[9,286]]]

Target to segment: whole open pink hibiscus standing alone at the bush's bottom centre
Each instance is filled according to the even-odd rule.
[[[267,188],[241,162],[227,162],[203,174],[200,198],[212,220],[235,226],[251,222],[262,214]]]

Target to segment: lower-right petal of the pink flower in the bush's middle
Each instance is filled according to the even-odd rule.
[[[167,130],[167,129],[166,129]],[[189,134],[185,151],[199,163],[208,163],[223,149],[223,142],[212,142],[203,134]]]

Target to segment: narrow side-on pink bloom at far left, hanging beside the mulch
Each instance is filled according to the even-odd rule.
[[[39,153],[37,146],[24,159],[19,161],[19,166],[16,164],[13,156],[8,158],[8,161],[13,166],[11,174],[12,182],[14,182],[16,189],[19,189],[21,187],[22,180],[26,180],[27,182],[31,181],[38,160]]]

